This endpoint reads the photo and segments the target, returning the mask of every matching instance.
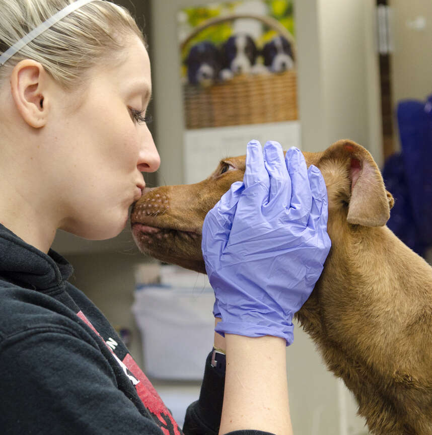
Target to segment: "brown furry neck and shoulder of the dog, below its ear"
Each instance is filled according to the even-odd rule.
[[[324,272],[297,319],[353,392],[372,433],[432,433],[424,419],[432,414],[432,268],[387,227],[345,224],[339,237],[344,243],[332,238]],[[352,261],[358,257],[366,262]],[[419,402],[418,415],[399,427],[397,414]]]

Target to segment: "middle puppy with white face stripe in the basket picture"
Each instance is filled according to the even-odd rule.
[[[256,63],[258,49],[254,40],[247,34],[231,36],[222,45],[223,80],[238,74],[249,74]]]

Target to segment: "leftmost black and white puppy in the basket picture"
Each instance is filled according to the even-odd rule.
[[[211,85],[219,78],[221,53],[208,41],[192,46],[186,59],[187,77],[192,85]]]

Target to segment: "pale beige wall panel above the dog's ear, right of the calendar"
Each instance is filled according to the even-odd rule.
[[[321,46],[319,83],[325,138],[321,147],[341,138],[350,138],[368,148],[381,165],[373,2],[322,1],[318,13]],[[299,35],[302,36],[309,38],[309,35]],[[304,98],[307,98],[307,93]],[[314,122],[306,114],[303,119],[307,125]]]

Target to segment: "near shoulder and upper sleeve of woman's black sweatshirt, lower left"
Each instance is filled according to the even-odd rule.
[[[118,389],[98,349],[61,327],[0,342],[0,426],[18,435],[162,435]]]

